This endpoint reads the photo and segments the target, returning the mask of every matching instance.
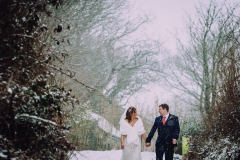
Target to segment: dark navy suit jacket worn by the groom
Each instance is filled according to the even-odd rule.
[[[169,114],[165,125],[163,125],[162,119],[163,119],[163,116],[156,117],[155,122],[152,126],[152,129],[146,139],[146,143],[151,142],[151,139],[155,131],[158,129],[158,137],[155,144],[156,146],[160,146],[160,145],[167,145],[169,147],[177,146],[176,144],[175,145],[172,144],[172,140],[173,139],[178,140],[178,136],[180,132],[178,117],[175,115]]]

